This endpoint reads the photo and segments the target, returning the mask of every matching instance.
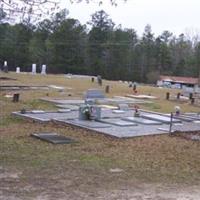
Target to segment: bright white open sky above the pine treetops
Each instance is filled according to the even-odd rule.
[[[109,0],[98,3],[74,3],[61,0],[61,7],[69,10],[69,17],[78,19],[82,24],[91,20],[91,15],[103,9],[113,22],[122,28],[134,28],[139,35],[146,24],[150,24],[155,35],[169,30],[175,35],[200,30],[200,0],[118,0],[118,6],[111,6]],[[84,0],[83,0],[84,1]]]

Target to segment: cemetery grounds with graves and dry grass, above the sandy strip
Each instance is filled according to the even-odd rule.
[[[76,177],[84,191],[90,182],[92,190],[95,182],[110,187],[114,181],[115,188],[119,181],[136,179],[198,183],[200,107],[166,99],[166,93],[172,98],[180,90],[138,84],[135,94],[126,82],[99,84],[90,76],[32,71],[3,76],[9,80],[1,80],[0,90],[0,173],[6,166],[3,175],[13,184],[25,179],[33,187],[28,196],[51,183],[49,194],[53,187],[65,190],[65,181],[74,183]],[[19,94],[16,101],[14,94]],[[13,170],[18,178],[10,178]],[[35,174],[47,175],[40,188]],[[5,186],[22,195],[11,182]]]

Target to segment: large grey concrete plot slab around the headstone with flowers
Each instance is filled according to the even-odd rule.
[[[48,122],[50,120],[55,120],[57,122],[62,122],[63,124],[70,124],[72,126],[78,126],[80,128],[85,128],[94,132],[101,134],[106,134],[118,138],[128,138],[128,137],[137,137],[144,135],[156,135],[156,134],[166,134],[169,131],[169,121],[168,116],[158,115],[158,114],[149,114],[141,112],[141,114],[146,114],[147,117],[150,115],[150,119],[142,118],[143,120],[138,123],[137,126],[134,126],[136,122],[134,121],[125,121],[124,118],[133,119],[133,110],[125,111],[124,113],[113,113],[112,110],[102,110],[101,122],[97,121],[83,121],[78,120],[78,111],[71,111],[66,113],[60,112],[45,112],[45,113],[31,113],[27,112],[22,114],[20,112],[13,113],[18,116],[27,117],[33,120],[38,120],[40,122]],[[152,120],[152,115],[154,116]],[[159,116],[159,117],[158,117]],[[166,119],[167,118],[167,119]],[[104,121],[105,120],[105,121]],[[136,119],[137,120],[137,119]],[[143,124],[144,120],[151,120],[156,125]],[[161,120],[165,123],[161,123]],[[123,122],[122,122],[123,121]],[[199,121],[199,120],[198,120]],[[143,123],[142,123],[143,122]],[[129,123],[129,124],[128,124]],[[132,124],[133,123],[133,124]],[[175,125],[176,124],[176,125]],[[182,122],[180,120],[174,120],[172,130],[173,131],[200,131],[199,123],[191,122]]]

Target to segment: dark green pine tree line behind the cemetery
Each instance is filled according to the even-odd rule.
[[[200,42],[146,25],[142,36],[116,26],[103,10],[82,25],[62,10],[37,24],[0,23],[0,62],[30,71],[46,64],[49,73],[101,75],[111,80],[154,82],[162,75],[198,77]],[[88,28],[89,27],[89,28]]]

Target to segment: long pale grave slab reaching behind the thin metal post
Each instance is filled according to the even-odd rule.
[[[170,123],[170,117],[169,116],[164,116],[164,115],[158,115],[158,114],[154,114],[154,113],[141,113],[141,117],[146,118],[146,119],[150,119],[150,120],[155,120],[155,121],[159,121],[159,122],[163,122],[163,123]],[[181,120],[179,119],[172,119],[173,123],[181,123]]]

